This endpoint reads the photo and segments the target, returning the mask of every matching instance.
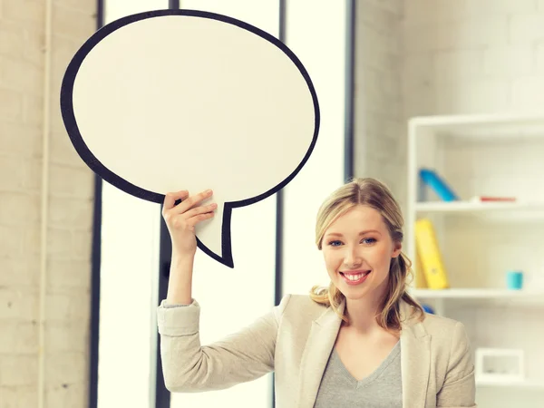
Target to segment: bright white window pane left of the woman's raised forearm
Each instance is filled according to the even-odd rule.
[[[167,7],[167,0],[104,0],[104,24]],[[102,182],[98,408],[154,406],[159,238],[160,204]]]

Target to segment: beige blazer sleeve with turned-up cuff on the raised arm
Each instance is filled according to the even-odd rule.
[[[160,359],[170,392],[221,390],[274,370],[277,329],[290,296],[251,325],[210,345],[200,345],[200,306],[157,309]]]

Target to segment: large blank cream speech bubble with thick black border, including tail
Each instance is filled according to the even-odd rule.
[[[68,65],[61,109],[75,150],[113,186],[159,203],[169,191],[213,189],[217,214],[196,235],[228,267],[232,209],[293,180],[319,131],[316,91],[295,53],[257,27],[195,10],[102,27]]]

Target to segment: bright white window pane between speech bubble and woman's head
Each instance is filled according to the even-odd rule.
[[[284,293],[329,282],[315,226],[321,202],[344,182],[346,12],[345,1],[287,1],[286,44],[316,87],[321,126],[315,151],[284,189]]]

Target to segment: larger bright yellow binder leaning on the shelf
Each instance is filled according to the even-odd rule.
[[[442,254],[430,219],[418,219],[415,223],[415,244],[421,261],[427,286],[430,289],[450,287],[448,274],[442,261]]]

